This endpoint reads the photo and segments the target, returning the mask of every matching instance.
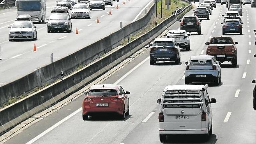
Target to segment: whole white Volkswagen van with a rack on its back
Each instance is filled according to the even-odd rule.
[[[166,86],[157,100],[159,111],[159,138],[167,135],[201,134],[207,141],[212,135],[212,108],[208,85]]]

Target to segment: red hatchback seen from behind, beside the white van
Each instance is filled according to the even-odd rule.
[[[87,120],[89,115],[105,112],[117,113],[121,119],[125,119],[125,115],[129,115],[130,102],[127,94],[130,92],[125,92],[119,85],[93,85],[84,94],[83,120]]]

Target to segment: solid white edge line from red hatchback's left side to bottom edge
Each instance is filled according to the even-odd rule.
[[[76,110],[75,112],[73,112],[72,114],[68,115],[67,117],[65,117],[64,119],[60,120],[59,122],[57,122],[56,124],[54,124],[53,126],[51,126],[50,128],[48,128],[47,130],[45,130],[44,132],[42,132],[41,134],[39,134],[38,136],[36,136],[35,138],[33,138],[32,140],[30,140],[29,142],[27,142],[26,144],[32,144],[33,142],[35,142],[36,140],[40,139],[41,137],[43,137],[44,135],[46,135],[48,132],[50,132],[51,130],[53,130],[54,128],[56,128],[57,126],[59,126],[60,124],[62,124],[63,122],[65,122],[66,120],[68,120],[69,118],[71,118],[72,116],[76,115],[77,113],[79,113],[82,110],[82,107],[79,108],[78,110]]]

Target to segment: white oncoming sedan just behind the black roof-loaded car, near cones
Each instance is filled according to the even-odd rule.
[[[71,11],[71,18],[91,18],[91,11],[86,3],[77,3]]]

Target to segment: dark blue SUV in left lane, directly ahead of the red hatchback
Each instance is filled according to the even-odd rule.
[[[150,47],[150,65],[154,65],[157,61],[174,61],[175,64],[180,63],[180,47],[174,38],[156,38],[146,47]]]

